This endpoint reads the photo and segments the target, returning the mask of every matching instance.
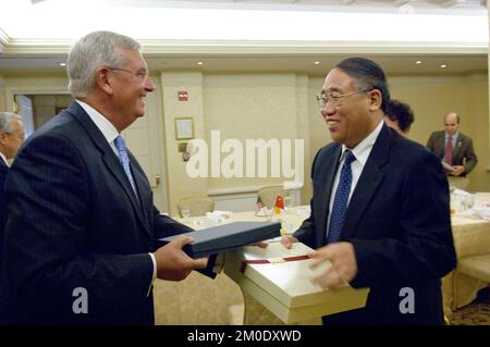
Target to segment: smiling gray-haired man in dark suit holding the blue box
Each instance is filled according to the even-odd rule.
[[[155,86],[134,39],[94,32],[68,59],[76,99],[34,133],[7,186],[9,323],[154,324],[155,278],[181,281],[194,260],[161,215],[120,133],[145,114]]]

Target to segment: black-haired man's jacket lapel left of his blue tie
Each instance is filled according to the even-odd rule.
[[[322,185],[320,188],[320,207],[323,207],[321,214],[319,215],[319,232],[317,233],[317,245],[324,245],[327,239],[327,220],[329,218],[330,211],[330,195],[332,194],[333,179],[335,178],[335,173],[339,166],[340,156],[342,153],[342,146],[336,145],[332,149],[332,154],[327,156],[320,168],[320,177],[323,177]],[[333,163],[333,164],[332,164]]]

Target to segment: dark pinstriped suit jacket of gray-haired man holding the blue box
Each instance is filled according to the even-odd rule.
[[[7,183],[3,292],[12,323],[154,323],[147,252],[157,238],[192,230],[159,214],[128,154],[140,203],[78,103],[24,144]],[[78,287],[87,293],[86,314],[72,309]]]

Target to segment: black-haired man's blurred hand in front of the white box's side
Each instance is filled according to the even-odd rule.
[[[351,243],[334,243],[321,247],[309,255],[314,262],[311,269],[330,260],[332,267],[313,280],[323,289],[335,289],[351,283],[357,274],[357,261]]]

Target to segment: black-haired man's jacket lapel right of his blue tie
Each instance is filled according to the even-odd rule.
[[[351,197],[341,238],[350,238],[355,235],[357,224],[383,182],[384,173],[381,168],[388,161],[391,140],[390,129],[383,125]]]

